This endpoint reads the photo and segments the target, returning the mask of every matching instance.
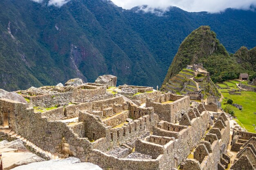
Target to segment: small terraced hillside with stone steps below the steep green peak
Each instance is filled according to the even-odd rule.
[[[169,79],[163,87],[164,91],[170,91],[178,95],[195,92],[202,93],[204,98],[210,95],[220,97],[218,89],[209,78],[209,75],[199,74],[192,69],[182,69],[177,75]]]

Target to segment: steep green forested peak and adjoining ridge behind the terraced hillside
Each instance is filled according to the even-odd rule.
[[[242,47],[235,55],[229,55],[209,26],[200,26],[180,45],[168,69],[164,84],[186,65],[203,63],[213,82],[238,78],[240,73],[253,74],[256,69],[255,49]]]

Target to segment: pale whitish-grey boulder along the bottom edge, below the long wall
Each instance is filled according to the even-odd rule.
[[[99,166],[92,163],[81,163],[80,159],[69,157],[62,160],[50,160],[43,162],[30,163],[18,166],[12,170],[102,170]]]

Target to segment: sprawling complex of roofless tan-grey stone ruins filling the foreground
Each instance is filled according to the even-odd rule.
[[[141,94],[113,95],[108,88],[87,83],[17,91],[27,103],[0,99],[0,137],[34,144],[47,160],[77,157],[103,170],[217,170],[230,162],[225,113],[212,121],[203,104],[190,105],[189,96],[127,85],[119,91]],[[237,135],[233,141],[241,142]],[[250,158],[243,154],[233,166]]]

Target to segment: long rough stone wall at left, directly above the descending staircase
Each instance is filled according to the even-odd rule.
[[[0,99],[1,110],[13,105],[14,110],[10,112],[12,129],[43,150],[60,154],[69,152],[70,156],[77,156],[82,161],[92,150],[90,141],[79,138],[65,123],[48,121],[42,118],[42,113],[34,113],[34,108],[27,108],[27,104]],[[65,150],[63,145],[67,146]]]

